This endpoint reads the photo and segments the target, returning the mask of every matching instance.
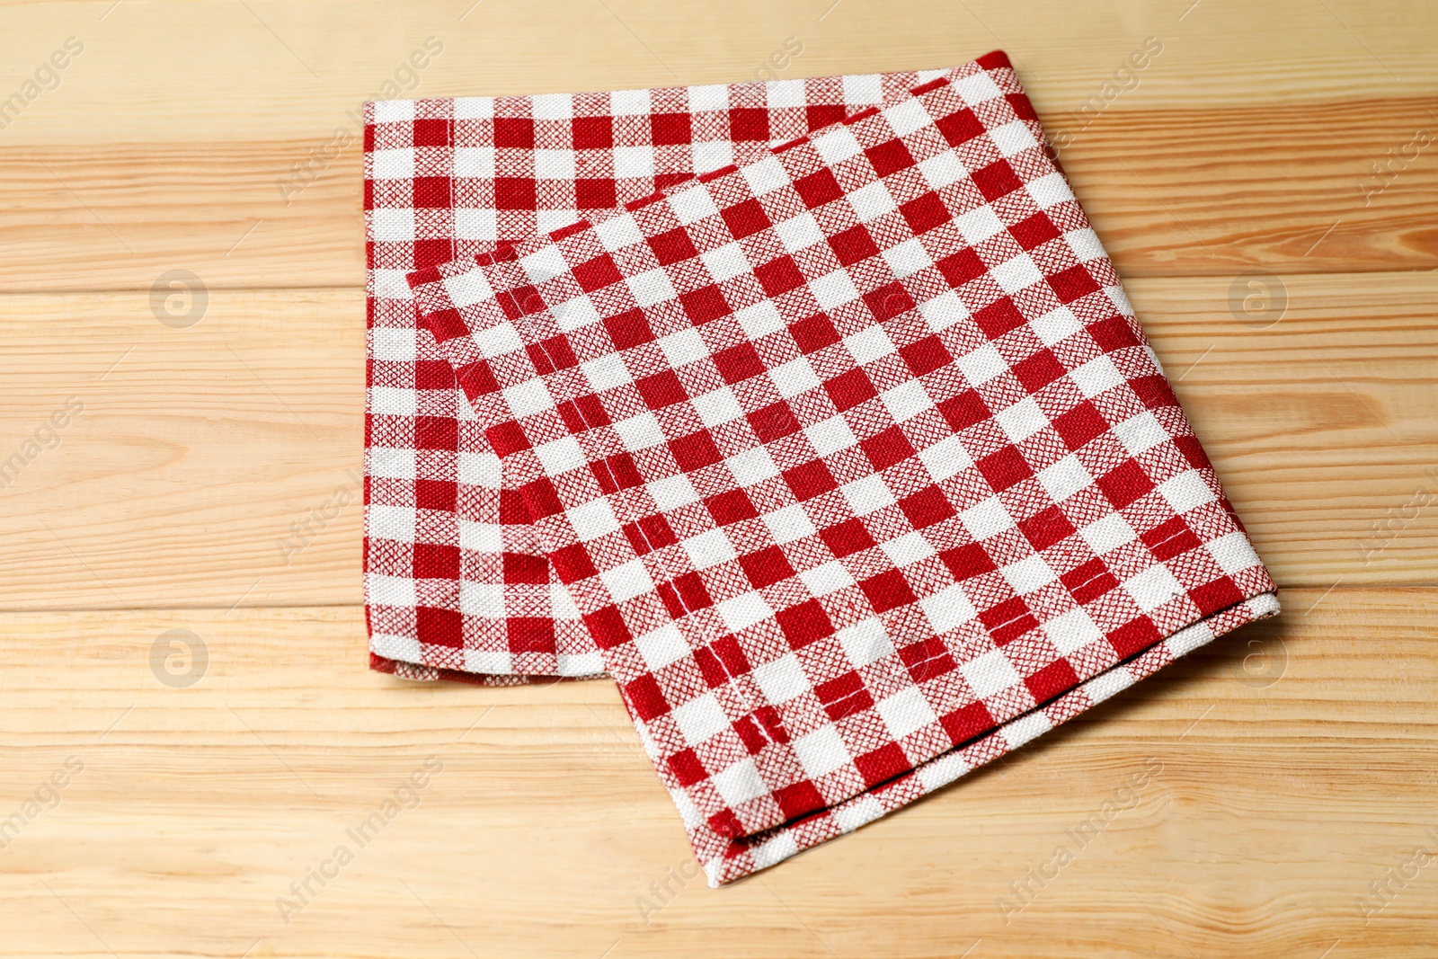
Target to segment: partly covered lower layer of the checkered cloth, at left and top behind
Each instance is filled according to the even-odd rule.
[[[410,679],[523,683],[601,671],[406,273],[531,237],[953,75],[1038,122],[1008,60],[956,70],[613,93],[365,105],[371,663]]]

